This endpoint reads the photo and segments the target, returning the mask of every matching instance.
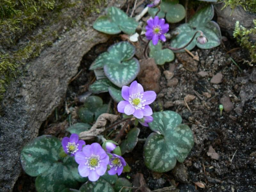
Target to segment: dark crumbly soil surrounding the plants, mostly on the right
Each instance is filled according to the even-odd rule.
[[[111,39],[108,45],[94,47],[84,56],[78,70],[81,72],[70,83],[65,101],[69,108],[73,107],[75,110],[72,115],[67,115],[66,103],[60,105],[56,112],[42,124],[41,135],[52,134],[59,138],[69,135],[65,129],[70,123],[79,122],[75,111],[82,105],[80,101],[84,95],[87,95],[88,87],[94,81],[94,74],[88,69],[93,60],[117,39]],[[179,176],[172,170],[159,174],[146,168],[142,153],[144,142],[140,140],[132,153],[124,155],[125,160],[131,166],[131,172],[122,174],[123,177],[130,178],[130,181],[133,182],[135,174],[142,173],[151,190],[174,185],[183,192],[256,191],[255,68],[238,62],[242,68],[240,70],[234,65],[230,56],[235,61],[246,57],[245,51],[241,49],[232,51],[230,55],[226,54],[227,51],[234,48],[234,45],[230,44],[231,41],[228,39],[220,47],[210,50],[194,49],[193,53],[197,52],[200,58],[195,72],[186,70],[185,64],[181,63],[177,57],[175,61],[159,67],[162,74],[160,77],[161,92],[158,93],[152,108],[155,112],[172,110],[179,113],[183,118],[183,123],[189,125],[195,137],[195,145],[183,163],[185,168],[177,170],[183,176]],[[186,53],[184,53],[184,57],[187,57]],[[173,69],[173,78],[178,79],[178,83],[168,86],[163,72]],[[198,72],[201,71],[208,72],[208,76],[198,75]],[[211,83],[212,76],[219,72],[223,75],[221,83]],[[241,98],[241,90],[246,89],[250,89],[251,93],[248,92],[247,98]],[[196,98],[185,103],[184,97],[188,94],[194,95]],[[105,103],[110,101],[108,93],[99,94],[99,96]],[[230,98],[234,109],[230,112],[223,110],[221,115],[219,105],[223,96]],[[118,114],[116,103],[112,103],[112,108],[114,113]],[[132,127],[131,124],[129,129]],[[142,126],[140,126],[140,130],[139,138],[141,139],[146,138],[152,132]],[[116,132],[118,133],[118,129]],[[210,146],[219,155],[218,160],[207,155]],[[205,188],[197,186],[195,184],[197,182],[203,183]],[[35,191],[34,178],[23,174],[18,179],[13,191]]]

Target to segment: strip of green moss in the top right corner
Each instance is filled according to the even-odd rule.
[[[230,6],[233,10],[237,6],[242,6],[245,11],[256,13],[256,1],[255,0],[224,0],[224,8]]]

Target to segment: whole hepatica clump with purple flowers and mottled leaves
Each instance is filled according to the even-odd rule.
[[[147,58],[149,46],[149,56],[157,65],[173,61],[174,52],[184,51],[184,48],[209,49],[220,45],[221,33],[219,26],[211,21],[214,16],[211,5],[199,10],[188,23],[180,25],[170,42],[165,37],[169,32],[168,23],[180,22],[185,17],[184,7],[178,0],[156,0],[149,7],[152,17],[144,23],[144,39],[148,41],[143,55]],[[125,38],[136,31],[139,40],[144,41],[142,28],[137,26],[134,18],[115,7],[110,7],[107,15],[100,16],[93,24],[94,29],[107,34],[123,32]],[[194,146],[193,133],[188,125],[182,124],[179,114],[153,112],[151,104],[156,93],[144,90],[135,80],[140,72],[137,58],[142,54],[135,56],[134,45],[128,41],[117,42],[98,55],[90,66],[96,81],[89,91],[93,94],[109,92],[114,104],[113,100],[103,104],[100,97],[89,96],[74,115],[79,119],[66,129],[71,134],[69,137],[60,140],[44,135],[23,148],[20,160],[25,172],[36,177],[37,191],[131,191],[131,182],[118,177],[130,172],[122,155],[133,152],[141,129],[153,132],[146,138],[143,157],[146,167],[154,172],[168,172],[177,161],[182,163],[188,156]],[[116,120],[120,118],[118,112],[123,116],[119,121]],[[69,119],[70,123],[74,121]],[[96,133],[97,129],[100,132]],[[92,134],[90,138],[97,138],[97,142],[85,142],[81,140],[83,137],[79,139],[81,132]]]

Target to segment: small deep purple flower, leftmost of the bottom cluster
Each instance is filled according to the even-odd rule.
[[[82,145],[85,145],[86,142],[79,140],[78,135],[73,133],[70,138],[64,137],[61,144],[66,154],[74,156],[77,152],[82,151]]]

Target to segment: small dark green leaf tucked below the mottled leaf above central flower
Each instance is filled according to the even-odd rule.
[[[104,93],[109,91],[109,87],[114,86],[113,83],[108,78],[103,78],[96,80],[91,86],[89,87],[89,91],[94,94]]]

